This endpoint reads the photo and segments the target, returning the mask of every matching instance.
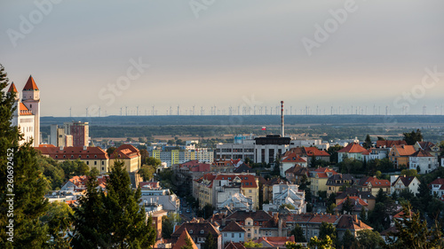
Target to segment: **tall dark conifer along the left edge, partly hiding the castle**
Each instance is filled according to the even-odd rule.
[[[48,208],[44,198],[48,183],[31,144],[19,146],[23,135],[12,126],[16,94],[6,93],[8,81],[0,65],[0,248],[45,248],[47,226],[39,218]],[[13,212],[7,212],[11,207]],[[11,225],[13,238],[7,234]]]

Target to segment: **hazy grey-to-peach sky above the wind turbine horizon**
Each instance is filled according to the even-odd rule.
[[[442,0],[53,2],[0,3],[0,63],[44,116],[444,104]]]

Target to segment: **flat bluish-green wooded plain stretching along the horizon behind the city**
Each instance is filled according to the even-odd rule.
[[[90,136],[147,137],[198,136],[202,138],[225,135],[254,134],[266,136],[280,134],[279,116],[112,116],[102,118],[42,117],[42,135],[50,134],[50,125],[66,121],[88,121]],[[379,122],[378,122],[379,121]],[[262,130],[262,127],[266,130]],[[439,143],[444,140],[442,116],[286,116],[285,134],[302,139],[321,138],[324,141],[350,139],[363,140],[370,136],[400,139],[402,133],[420,128],[424,141]]]

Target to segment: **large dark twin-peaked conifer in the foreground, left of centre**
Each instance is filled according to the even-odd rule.
[[[152,218],[139,206],[140,189],[131,189],[130,175],[123,161],[116,161],[107,179],[107,194],[97,191],[95,175],[90,177],[87,196],[75,210],[73,247],[139,248],[155,244]],[[85,221],[91,214],[93,223]],[[82,228],[81,228],[82,227]],[[91,233],[91,234],[89,234]],[[86,246],[86,247],[85,247]]]

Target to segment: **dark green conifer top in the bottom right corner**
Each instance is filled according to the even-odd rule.
[[[442,248],[442,232],[434,226],[427,228],[427,222],[421,222],[419,214],[412,211],[410,205],[403,205],[402,219],[395,220],[397,232],[389,233],[389,248]]]

